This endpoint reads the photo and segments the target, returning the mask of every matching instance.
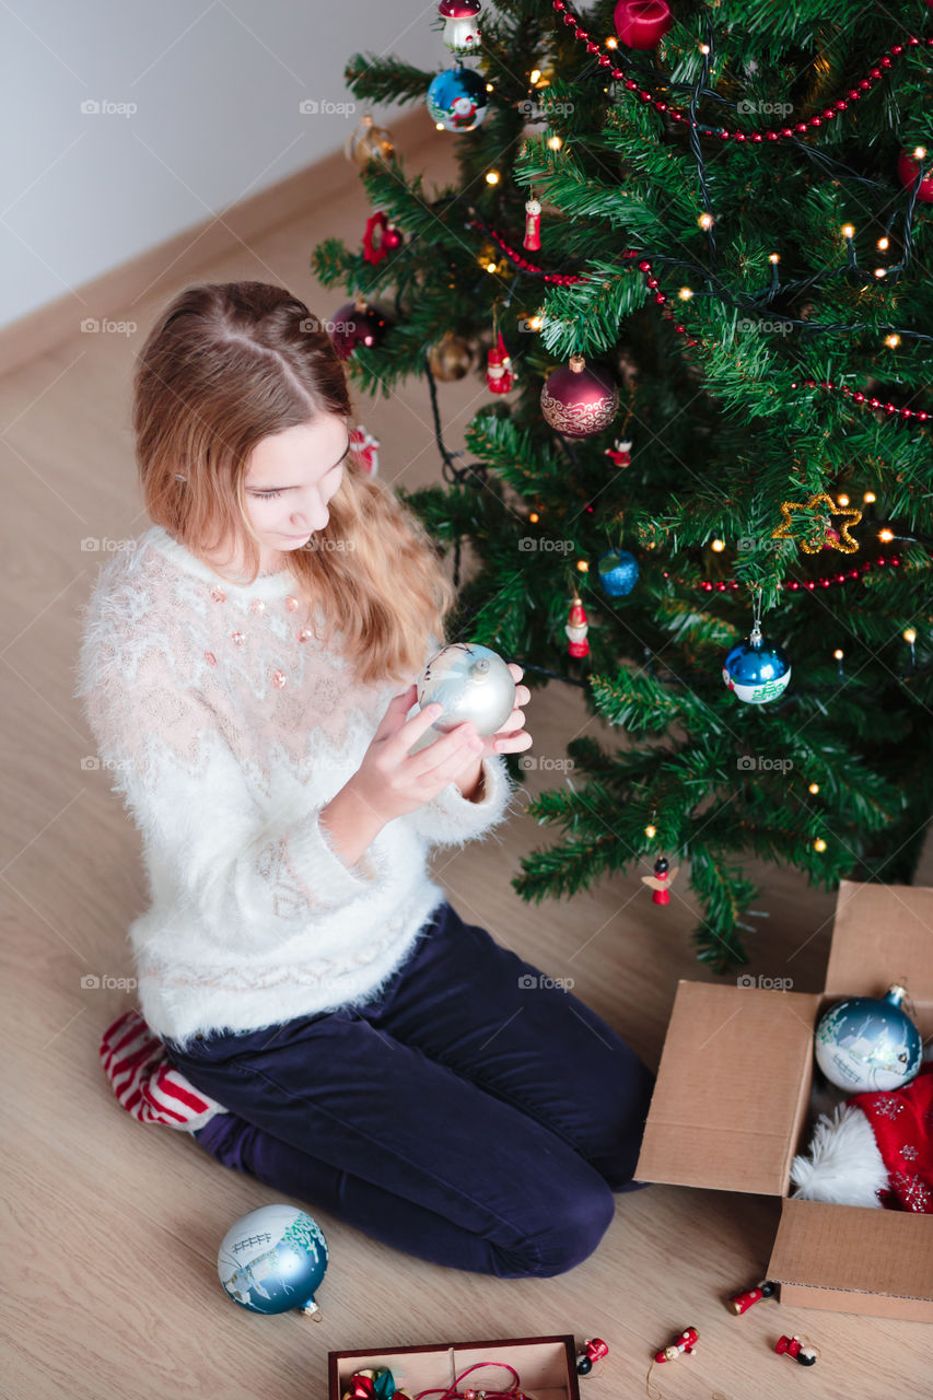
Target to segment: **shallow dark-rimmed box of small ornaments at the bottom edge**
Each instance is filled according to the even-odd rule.
[[[329,1400],[342,1400],[357,1371],[388,1366],[396,1383],[416,1396],[420,1390],[450,1389],[457,1376],[478,1361],[507,1361],[518,1372],[523,1390],[535,1400],[580,1400],[573,1337],[509,1337],[503,1341],[445,1341],[433,1347],[394,1347],[389,1351],[329,1351]],[[461,1389],[507,1390],[507,1371],[474,1371]]]

